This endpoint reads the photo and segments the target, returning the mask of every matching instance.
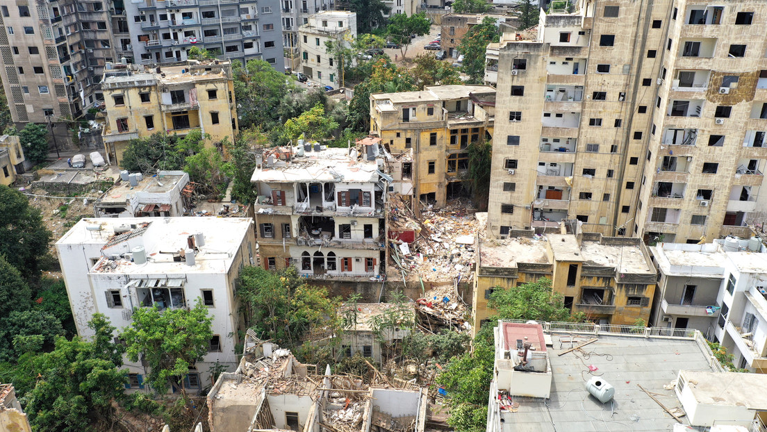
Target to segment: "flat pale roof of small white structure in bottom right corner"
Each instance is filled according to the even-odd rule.
[[[739,372],[681,371],[701,404],[767,410],[767,375]]]

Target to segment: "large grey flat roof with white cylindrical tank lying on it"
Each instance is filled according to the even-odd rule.
[[[594,338],[578,336],[580,343]],[[613,335],[596,336],[597,341],[586,345],[581,352],[559,356],[571,348],[572,335],[553,333],[553,346],[548,349],[551,361],[551,397],[533,399],[515,397],[519,404],[516,412],[501,411],[504,432],[593,432],[594,430],[621,430],[667,432],[676,420],[644,393],[660,394],[659,401],[669,408],[680,406],[673,389],[663,385],[676,379],[678,371],[713,372],[703,348],[694,340],[673,338],[643,338]],[[573,346],[577,346],[575,343]],[[596,371],[589,373],[588,365]],[[614,402],[602,404],[586,391],[584,384],[592,376],[601,376],[615,387]],[[742,374],[746,379],[752,374]],[[725,385],[719,381],[719,391]],[[763,392],[763,388],[759,391]],[[686,417],[682,417],[689,424]]]

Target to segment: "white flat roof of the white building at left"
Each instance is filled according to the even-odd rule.
[[[87,218],[76,223],[56,244],[101,246],[104,256],[91,269],[94,273],[225,273],[252,229],[251,224],[249,218]],[[188,247],[188,237],[198,232],[202,232],[205,244],[197,245],[195,265],[174,260],[179,250]],[[126,255],[137,246],[143,246],[146,252],[143,264],[132,262]]]

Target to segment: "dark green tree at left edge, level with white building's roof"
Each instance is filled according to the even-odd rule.
[[[17,190],[0,185],[0,256],[34,283],[50,241],[51,232],[45,229],[40,210]]]

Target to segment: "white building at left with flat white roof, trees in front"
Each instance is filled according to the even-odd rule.
[[[255,262],[249,218],[81,219],[56,242],[77,334],[90,337],[95,313],[118,329],[136,308],[186,308],[199,301],[213,318],[209,354],[190,370],[186,387],[210,381],[218,362],[237,368],[239,271]],[[144,388],[146,368],[127,361],[131,388]]]

